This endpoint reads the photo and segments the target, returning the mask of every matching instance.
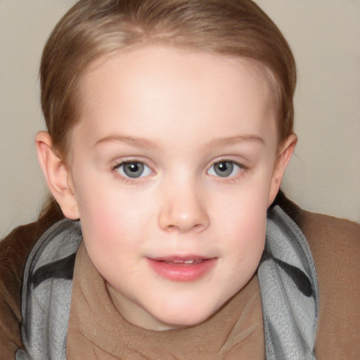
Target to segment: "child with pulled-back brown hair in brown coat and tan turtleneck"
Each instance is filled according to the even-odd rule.
[[[36,136],[67,219],[53,203],[1,243],[1,326],[22,321],[8,358],[356,359],[359,226],[273,204],[295,82],[250,0],[70,9],[44,49]]]

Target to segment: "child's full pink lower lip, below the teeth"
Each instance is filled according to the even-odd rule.
[[[190,282],[203,278],[214,268],[217,258],[206,259],[203,262],[193,265],[176,265],[158,262],[148,258],[151,268],[163,278],[171,281]]]

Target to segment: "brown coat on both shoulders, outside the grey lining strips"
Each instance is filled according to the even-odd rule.
[[[314,257],[320,298],[317,359],[360,359],[359,224],[301,210],[282,193],[276,203],[300,226]],[[60,218],[58,212],[50,212],[0,243],[0,359],[15,359],[22,346],[20,297],[27,256]]]

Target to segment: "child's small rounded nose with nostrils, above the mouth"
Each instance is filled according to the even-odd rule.
[[[173,184],[174,185],[174,184]],[[195,186],[171,186],[162,191],[159,226],[165,231],[201,232],[210,219],[203,195]]]

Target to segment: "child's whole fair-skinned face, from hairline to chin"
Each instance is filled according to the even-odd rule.
[[[70,174],[110,297],[144,328],[207,319],[255,273],[283,173],[266,77],[149,46],[93,66],[81,90]]]

